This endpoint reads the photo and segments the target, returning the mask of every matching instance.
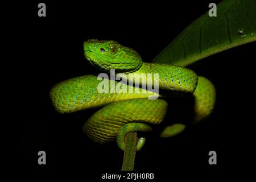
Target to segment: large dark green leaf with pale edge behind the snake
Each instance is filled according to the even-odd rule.
[[[217,5],[217,16],[210,17],[207,11],[185,28],[153,62],[185,66],[255,40],[256,0],[224,0]]]

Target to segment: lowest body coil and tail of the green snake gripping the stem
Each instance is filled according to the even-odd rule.
[[[144,124],[158,125],[163,121],[166,110],[167,102],[162,99],[135,98],[134,100],[113,102],[96,111],[85,122],[82,130],[90,139],[98,143],[109,143],[117,138],[118,146],[121,146],[123,150],[125,133],[150,131],[149,127]],[[127,125],[127,123],[131,124]],[[140,125],[141,123],[144,124]],[[123,135],[124,137],[122,137]],[[142,141],[143,139],[139,140],[139,143]],[[140,146],[141,144],[139,144],[138,148]]]

